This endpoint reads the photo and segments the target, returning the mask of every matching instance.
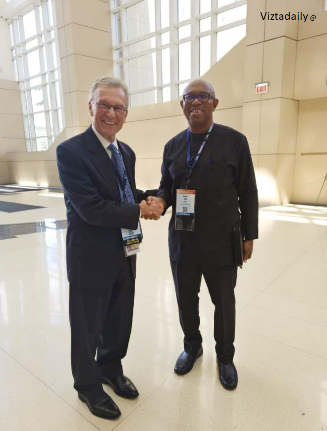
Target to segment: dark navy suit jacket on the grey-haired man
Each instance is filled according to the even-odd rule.
[[[113,163],[91,126],[56,150],[67,207],[68,281],[78,288],[104,289],[116,278],[123,247],[120,228],[136,229],[137,203],[157,193],[136,189],[135,153],[123,142],[118,141],[118,147],[136,204],[120,201]],[[136,256],[127,259],[135,277]]]

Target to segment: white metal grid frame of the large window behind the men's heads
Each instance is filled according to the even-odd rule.
[[[200,75],[200,38],[203,36],[211,35],[211,54],[210,54],[210,65],[213,66],[217,61],[217,33],[228,28],[237,27],[245,24],[246,19],[241,19],[224,26],[217,27],[217,15],[218,13],[225,12],[227,10],[234,9],[235,7],[247,4],[246,0],[237,0],[230,4],[226,4],[221,7],[217,7],[217,0],[211,0],[211,11],[200,14],[200,0],[190,0],[191,5],[191,16],[190,19],[178,22],[178,0],[169,0],[169,26],[161,28],[161,0],[155,1],[155,24],[156,29],[153,32],[149,32],[142,36],[138,36],[133,39],[127,37],[127,9],[143,0],[127,0],[119,6],[115,6],[115,0],[110,0],[111,5],[111,28],[112,28],[112,51],[115,53],[116,50],[121,49],[122,56],[115,58],[113,54],[114,74],[119,76],[119,65],[122,64],[124,81],[129,84],[129,69],[128,61],[132,58],[140,57],[142,55],[156,53],[157,59],[157,86],[151,86],[138,90],[131,91],[131,95],[145,93],[151,90],[157,90],[157,100],[162,102],[163,100],[163,87],[170,86],[170,100],[175,99],[179,96],[178,88],[179,85],[188,83],[190,80],[198,78]],[[327,1],[327,0],[326,0]],[[116,25],[115,25],[115,13],[120,12],[121,16],[121,32],[122,40],[121,43],[115,42],[116,38]],[[200,32],[200,20],[203,18],[211,17],[211,29]],[[178,28],[183,27],[186,24],[191,25],[191,35],[187,38],[178,39]],[[161,35],[169,31],[169,43],[162,45]],[[149,48],[144,51],[140,51],[137,54],[129,54],[128,46],[137,42],[144,41],[148,38],[156,38],[156,47]],[[118,39],[117,39],[118,40]],[[178,45],[184,42],[191,42],[191,78],[189,80],[180,81],[178,79]],[[161,51],[164,48],[170,48],[170,84],[162,84],[162,54]]]

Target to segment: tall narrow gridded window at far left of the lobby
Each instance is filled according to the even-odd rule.
[[[41,0],[9,23],[28,151],[44,151],[63,129],[53,0]]]

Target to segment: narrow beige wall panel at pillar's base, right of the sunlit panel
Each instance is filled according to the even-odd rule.
[[[295,154],[282,154],[277,157],[277,187],[280,204],[288,204],[292,199],[295,168]]]

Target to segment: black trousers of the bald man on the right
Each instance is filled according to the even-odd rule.
[[[233,360],[235,348],[235,295],[237,265],[217,267],[202,260],[170,260],[178,303],[179,321],[184,332],[184,349],[195,354],[202,343],[199,330],[199,292],[202,275],[215,305],[214,337],[222,363]]]

